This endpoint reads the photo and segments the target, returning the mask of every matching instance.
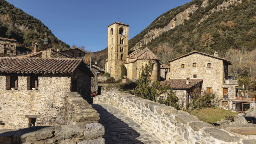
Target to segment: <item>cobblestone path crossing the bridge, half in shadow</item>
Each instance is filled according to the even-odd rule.
[[[93,104],[105,127],[105,144],[160,144],[160,141],[121,110],[106,104]]]

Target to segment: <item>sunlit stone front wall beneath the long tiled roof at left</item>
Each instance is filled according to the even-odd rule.
[[[25,115],[38,115],[37,126],[63,123],[61,107],[64,92],[70,90],[70,77],[43,75],[38,77],[39,90],[28,90],[28,76],[18,77],[18,90],[6,90],[6,76],[0,76],[0,129],[28,127]]]

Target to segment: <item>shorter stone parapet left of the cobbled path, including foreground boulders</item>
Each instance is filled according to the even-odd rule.
[[[0,143],[24,144],[104,144],[104,127],[100,115],[77,92],[65,93],[68,125],[29,127],[17,131],[0,131]]]

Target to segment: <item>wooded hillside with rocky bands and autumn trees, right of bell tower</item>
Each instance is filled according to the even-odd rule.
[[[192,50],[209,54],[218,51],[222,57],[230,48],[253,50],[255,7],[255,0],[193,0],[157,17],[129,40],[129,51],[147,45],[166,63]],[[171,54],[163,59],[166,49]],[[104,54],[95,53],[106,55],[106,50],[103,51]]]

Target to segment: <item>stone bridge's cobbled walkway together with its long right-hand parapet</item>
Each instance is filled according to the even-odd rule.
[[[106,144],[255,144],[256,126],[218,129],[182,110],[121,92],[94,97]]]

